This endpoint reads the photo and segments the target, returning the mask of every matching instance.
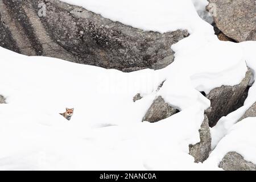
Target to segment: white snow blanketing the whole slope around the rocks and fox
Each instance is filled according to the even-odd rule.
[[[175,61],[167,68],[132,73],[0,48],[0,94],[7,97],[0,105],[0,169],[218,170],[229,150],[256,163],[255,136],[248,132],[255,129],[253,119],[234,125],[256,101],[254,85],[245,106],[212,129],[215,149],[209,159],[196,164],[188,155],[188,145],[200,141],[198,130],[210,106],[199,91],[239,84],[247,66],[255,71],[255,42],[221,42],[190,0],[64,2],[143,30],[181,28],[191,35],[172,46]],[[137,93],[143,98],[134,103]],[[156,96],[180,113],[142,123]],[[65,107],[75,108],[69,122],[59,115]]]

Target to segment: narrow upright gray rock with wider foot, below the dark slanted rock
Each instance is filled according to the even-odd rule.
[[[199,130],[200,142],[194,145],[189,145],[189,155],[195,158],[195,163],[204,162],[211,151],[210,144],[212,137],[210,136],[210,128],[207,115],[204,115],[204,121]]]

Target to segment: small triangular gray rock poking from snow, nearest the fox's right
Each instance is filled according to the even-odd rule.
[[[167,104],[161,96],[158,96],[147,110],[142,121],[148,121],[151,123],[158,122],[176,114],[178,111],[179,110],[174,109],[174,107]]]

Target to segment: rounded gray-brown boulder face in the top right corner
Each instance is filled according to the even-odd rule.
[[[256,40],[256,2],[254,0],[208,0],[217,27],[237,42]]]

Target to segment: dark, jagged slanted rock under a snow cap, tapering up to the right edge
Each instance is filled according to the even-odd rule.
[[[221,86],[207,94],[210,100],[210,109],[205,111],[209,119],[209,126],[216,125],[222,116],[226,116],[243,105],[245,91],[251,79],[251,71],[246,72],[245,78],[235,86]]]

